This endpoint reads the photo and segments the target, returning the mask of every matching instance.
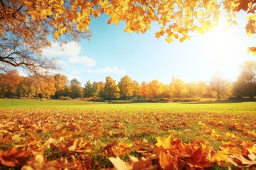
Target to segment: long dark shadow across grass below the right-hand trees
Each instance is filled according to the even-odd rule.
[[[218,103],[243,103],[243,102],[256,102],[256,98],[232,98],[220,101],[198,101],[198,102],[189,102],[182,104],[218,104]]]

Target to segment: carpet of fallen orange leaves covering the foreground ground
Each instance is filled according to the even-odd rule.
[[[256,168],[250,113],[16,109],[0,120],[6,169]]]

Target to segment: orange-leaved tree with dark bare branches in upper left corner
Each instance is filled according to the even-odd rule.
[[[70,4],[62,0],[0,2],[1,70],[23,67],[33,74],[43,74],[45,70],[57,69],[55,58],[42,55],[43,48],[51,45],[50,36],[60,43],[90,37],[87,30],[76,28]],[[60,34],[63,38],[58,38]]]

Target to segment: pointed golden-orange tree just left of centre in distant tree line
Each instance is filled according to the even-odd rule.
[[[112,98],[119,97],[119,88],[116,84],[116,81],[112,77],[106,77],[105,86],[104,86],[105,96],[111,101]]]

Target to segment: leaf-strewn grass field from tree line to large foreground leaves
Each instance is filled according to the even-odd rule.
[[[255,123],[256,102],[92,103],[0,99],[0,149],[5,152],[14,146],[26,147],[30,155],[42,155],[48,162],[65,157],[70,162],[68,166],[77,161],[92,169],[112,167],[109,157],[119,156],[129,161],[130,154],[139,159],[160,160],[158,166],[152,165],[152,169],[157,169],[165,167],[161,153],[167,157],[171,149],[166,152],[154,148],[164,147],[166,140],[172,140],[172,145],[181,139],[187,144],[181,148],[206,145],[215,154],[223,147],[255,147],[252,152],[256,154]],[[152,158],[157,155],[155,152],[161,157]],[[181,153],[179,164],[185,159]],[[223,155],[228,157],[228,154]],[[227,167],[230,162],[226,157],[210,159],[211,166],[202,163],[200,166]],[[26,164],[31,166],[29,162]]]

